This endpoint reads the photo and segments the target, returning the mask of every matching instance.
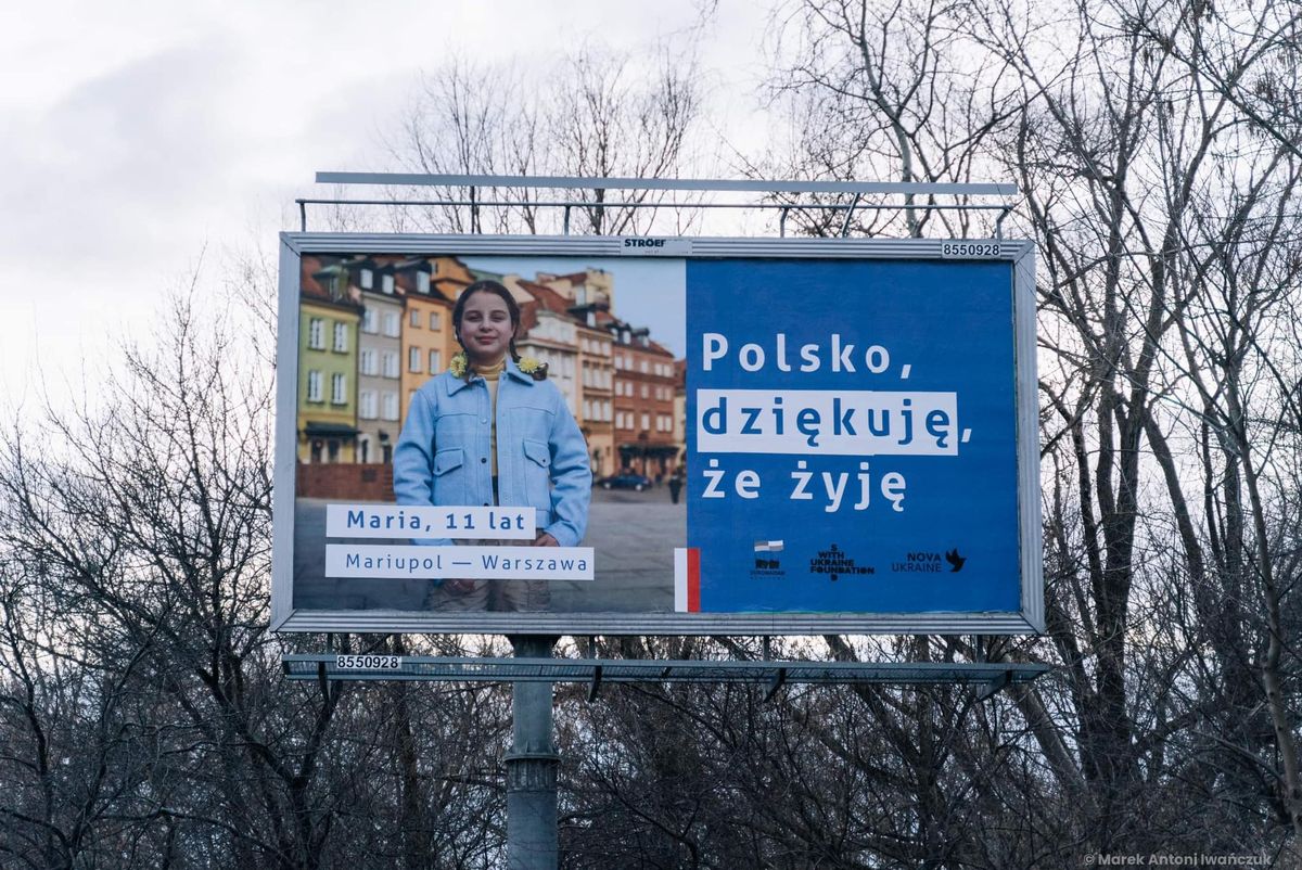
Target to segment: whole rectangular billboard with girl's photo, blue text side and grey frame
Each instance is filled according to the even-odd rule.
[[[1030,244],[281,241],[273,628],[1042,628]]]

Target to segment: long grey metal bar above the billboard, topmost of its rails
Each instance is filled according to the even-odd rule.
[[[850,193],[905,197],[1016,197],[1016,184],[931,184],[904,181],[777,181],[766,178],[620,178],[581,176],[495,176],[408,172],[318,172],[316,184],[426,188],[529,188],[578,190],[698,190],[740,193]]]

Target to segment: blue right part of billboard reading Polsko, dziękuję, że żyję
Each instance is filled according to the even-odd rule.
[[[702,612],[1019,610],[1012,263],[689,262],[687,430]]]

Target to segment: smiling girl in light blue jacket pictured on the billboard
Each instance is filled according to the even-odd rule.
[[[393,451],[393,495],[410,505],[534,508],[533,546],[575,547],[591,500],[589,449],[565,397],[547,379],[547,366],[516,350],[519,323],[519,305],[497,281],[475,281],[457,298],[452,324],[461,352],[411,397]],[[547,581],[445,577],[430,583],[424,610],[551,606]]]

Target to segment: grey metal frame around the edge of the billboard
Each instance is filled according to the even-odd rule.
[[[1003,191],[1000,191],[1003,193]],[[674,259],[944,259],[941,238],[672,238]],[[984,260],[1013,266],[1014,393],[1017,408],[1021,608],[1000,612],[922,613],[493,613],[449,615],[393,610],[293,607],[296,464],[275,469],[271,628],[277,632],[413,632],[484,634],[1030,634],[1044,629],[1040,542],[1039,425],[1035,378],[1035,258],[1029,241],[995,242]],[[682,250],[690,249],[689,254]],[[296,455],[298,283],[303,254],[460,254],[518,257],[628,257],[622,236],[484,236],[392,233],[281,233],[276,386],[276,455]],[[638,255],[647,257],[644,251]]]

